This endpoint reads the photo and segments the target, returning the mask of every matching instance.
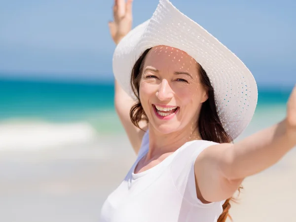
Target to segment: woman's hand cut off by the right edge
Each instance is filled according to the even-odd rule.
[[[296,140],[296,85],[287,104],[287,132]]]

